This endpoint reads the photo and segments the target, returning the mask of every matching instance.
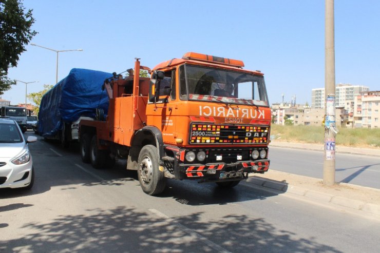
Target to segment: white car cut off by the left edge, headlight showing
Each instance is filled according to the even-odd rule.
[[[32,155],[20,127],[14,120],[0,118],[0,188],[31,189],[34,183]]]

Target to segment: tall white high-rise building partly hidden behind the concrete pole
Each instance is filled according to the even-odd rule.
[[[344,107],[349,112],[353,111],[355,95],[360,92],[369,91],[369,87],[364,85],[338,84],[335,87],[335,107]],[[325,88],[312,89],[311,107],[325,108]]]

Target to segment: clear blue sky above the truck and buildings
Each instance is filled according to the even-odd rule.
[[[72,68],[123,72],[135,57],[150,68],[194,51],[242,60],[265,75],[270,103],[311,104],[325,87],[325,1],[24,0],[32,43],[59,53],[58,79]],[[380,90],[380,1],[335,0],[336,83]],[[56,53],[28,45],[9,77],[28,93],[55,84]],[[2,98],[25,103],[25,84]],[[28,100],[28,103],[30,101]]]

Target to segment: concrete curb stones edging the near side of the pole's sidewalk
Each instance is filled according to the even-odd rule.
[[[287,194],[297,195],[303,198],[317,200],[327,204],[333,204],[337,206],[343,206],[359,211],[371,213],[372,215],[380,216],[380,205],[366,203],[359,200],[352,200],[340,196],[334,196],[333,194],[308,190],[299,186],[289,185],[286,183],[275,182],[273,180],[263,178],[250,178],[250,183],[255,185],[269,188],[272,190],[282,191]]]

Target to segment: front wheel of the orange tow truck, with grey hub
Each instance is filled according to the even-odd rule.
[[[159,170],[155,146],[146,145],[141,149],[137,174],[141,188],[146,194],[156,195],[165,189],[165,172]]]

